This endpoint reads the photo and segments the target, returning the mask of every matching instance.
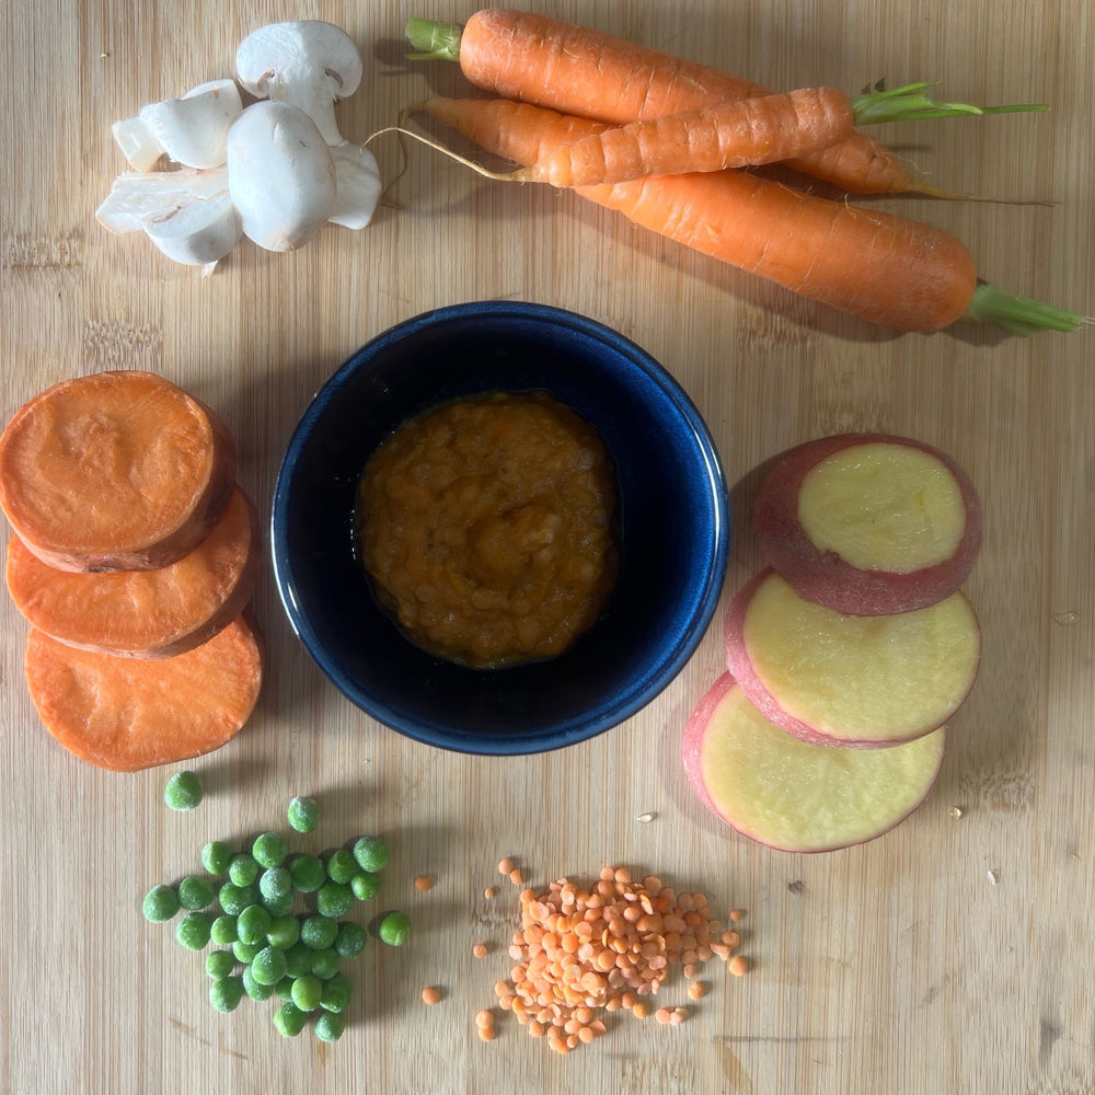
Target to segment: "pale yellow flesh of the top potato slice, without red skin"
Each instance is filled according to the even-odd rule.
[[[820,551],[860,569],[909,574],[955,554],[966,505],[937,457],[871,442],[841,449],[806,473],[798,520]]]

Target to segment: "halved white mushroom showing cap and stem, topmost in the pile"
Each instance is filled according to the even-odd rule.
[[[341,145],[334,104],[361,81],[361,55],[345,31],[321,20],[272,23],[247,35],[235,54],[243,87],[258,99],[290,103]]]

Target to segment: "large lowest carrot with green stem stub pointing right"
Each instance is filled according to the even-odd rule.
[[[434,97],[414,110],[526,165],[604,129],[506,100]],[[1083,322],[978,285],[966,247],[941,229],[748,173],[668,175],[577,193],[703,254],[899,331],[937,331],[964,315],[1024,335],[1074,331]]]

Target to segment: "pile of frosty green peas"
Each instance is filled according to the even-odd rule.
[[[188,800],[194,797],[192,793]],[[196,797],[200,800],[199,791]],[[287,812],[298,832],[315,828],[314,799],[293,798]],[[245,851],[233,852],[214,840],[201,849],[206,874],[152,887],[142,911],[153,923],[183,912],[175,938],[189,950],[214,944],[217,949],[206,955],[205,965],[211,979],[209,1003],[218,1012],[234,1011],[245,995],[255,1001],[277,996],[274,1027],[279,1034],[293,1038],[311,1018],[318,1038],[335,1041],[353,996],[339,965],[357,957],[368,941],[366,929],[344,918],[358,902],[377,896],[388,858],[380,837],[359,837],[325,862],[290,854],[275,832],[262,833]],[[307,908],[295,911],[298,898]],[[374,918],[372,930],[381,942],[400,946],[410,926],[404,913],[388,912]]]

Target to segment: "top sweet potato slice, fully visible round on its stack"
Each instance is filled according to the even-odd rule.
[[[181,558],[235,484],[235,446],[207,406],[137,370],[62,381],[0,436],[0,508],[62,570],[147,570]]]

